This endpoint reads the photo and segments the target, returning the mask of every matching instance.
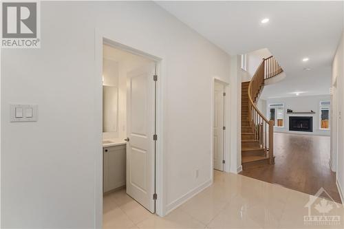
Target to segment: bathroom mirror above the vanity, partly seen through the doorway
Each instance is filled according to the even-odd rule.
[[[118,88],[103,85],[103,132],[117,132]]]

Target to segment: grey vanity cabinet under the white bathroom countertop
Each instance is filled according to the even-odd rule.
[[[103,148],[103,193],[125,186],[126,146]]]

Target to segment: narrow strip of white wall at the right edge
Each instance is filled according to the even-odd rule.
[[[336,182],[338,190],[344,201],[344,33],[338,44],[336,55],[332,63],[332,87],[334,94],[332,96],[332,125],[336,124],[336,129],[331,130],[331,159],[332,170],[336,171]]]

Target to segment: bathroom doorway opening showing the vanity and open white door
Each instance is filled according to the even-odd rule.
[[[135,226],[155,213],[157,70],[156,60],[104,41],[104,228]]]

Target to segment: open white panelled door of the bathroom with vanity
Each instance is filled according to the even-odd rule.
[[[155,212],[155,63],[127,74],[127,194]]]

